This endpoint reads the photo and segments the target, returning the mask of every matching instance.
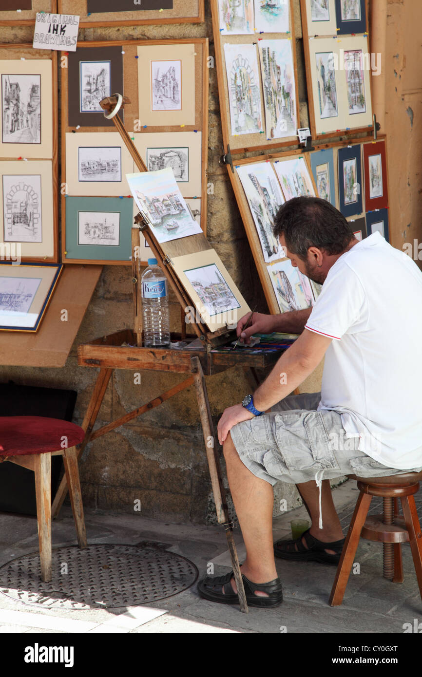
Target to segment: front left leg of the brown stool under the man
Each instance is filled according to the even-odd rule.
[[[333,588],[331,589],[331,595],[329,598],[329,605],[331,607],[337,607],[343,601],[343,596],[347,586],[347,581],[349,580],[354,556],[356,554],[356,550],[358,549],[360,532],[362,531],[362,527],[365,523],[366,515],[368,515],[371,500],[372,496],[370,496],[370,494],[364,494],[363,492],[360,492],[359,498],[356,502],[356,507],[354,509],[352,521],[350,522],[349,531],[347,531],[343,552],[341,552]]]

